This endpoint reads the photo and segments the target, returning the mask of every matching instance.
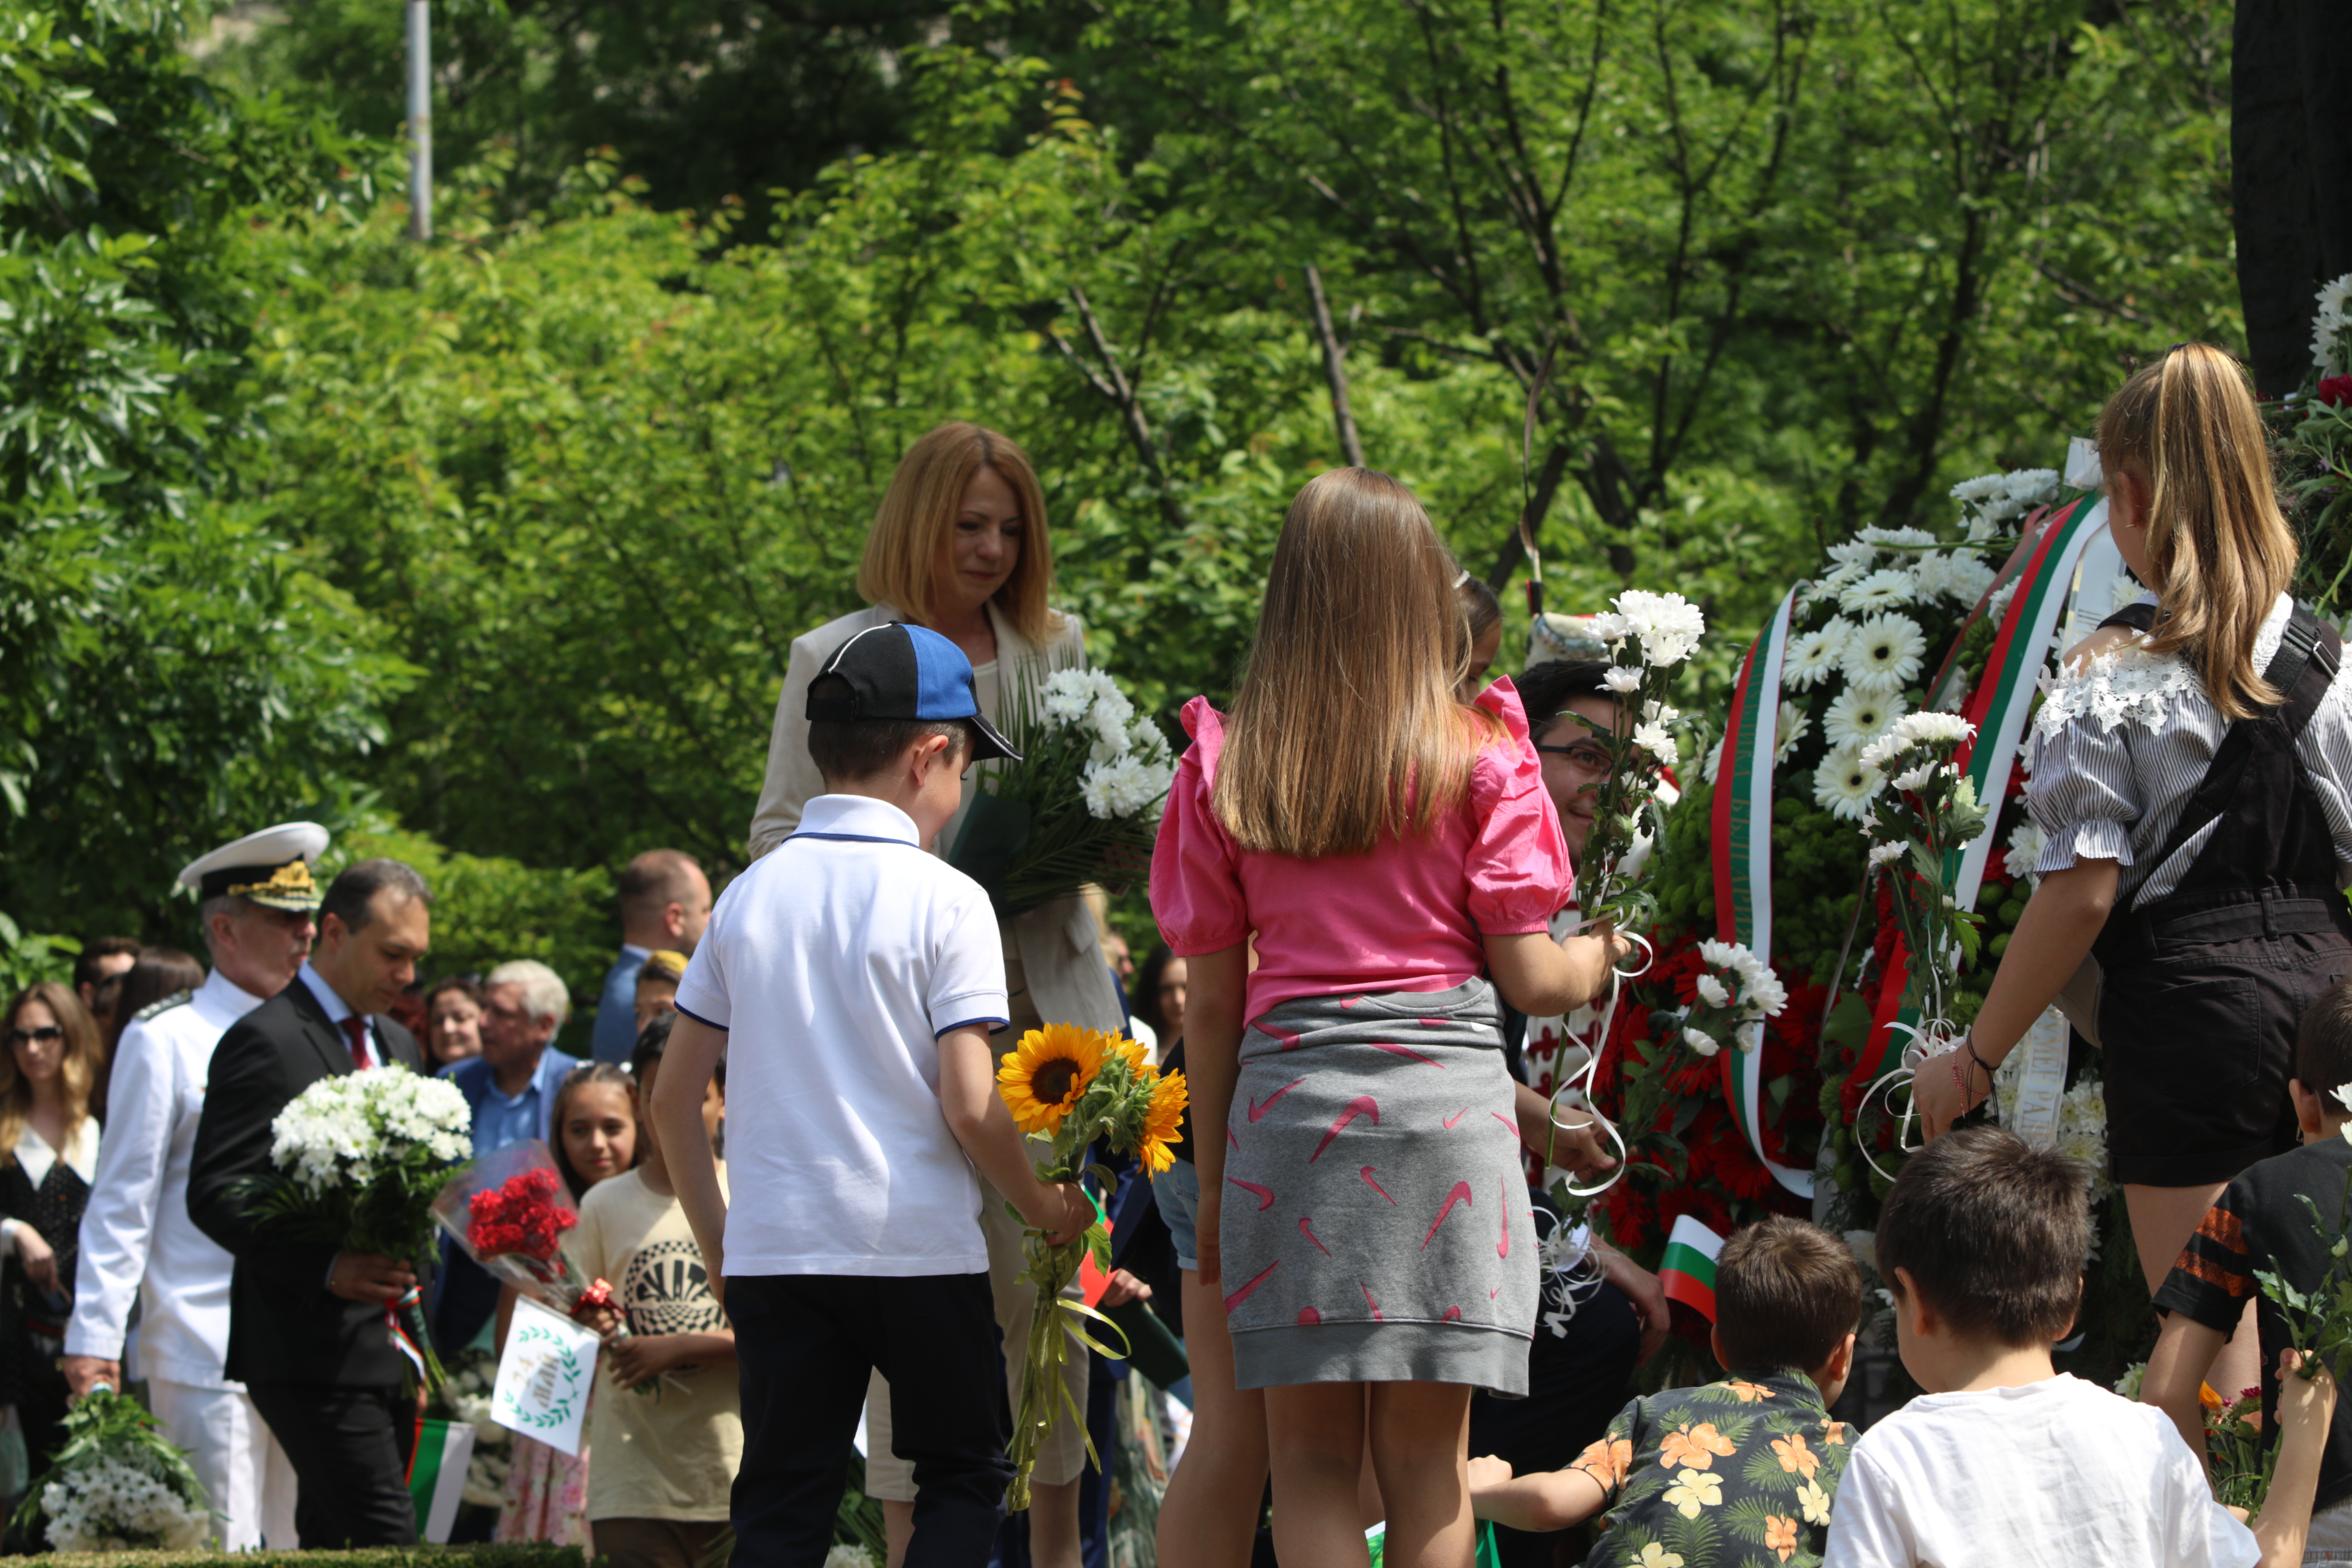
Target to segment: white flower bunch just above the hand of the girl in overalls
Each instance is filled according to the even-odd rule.
[[[1893,879],[1893,912],[1910,947],[1919,1039],[1940,1037],[1959,969],[1976,959],[1983,919],[1952,898],[1959,849],[1985,832],[1985,804],[1952,757],[1976,733],[1957,712],[1912,712],[1865,745],[1858,764],[1879,790],[1863,813],[1875,875]],[[1938,1046],[1929,1044],[1933,1053]]]

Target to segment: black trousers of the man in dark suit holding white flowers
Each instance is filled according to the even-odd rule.
[[[301,1490],[294,1530],[320,1547],[414,1547],[409,1446],[416,1399],[397,1387],[247,1382]]]

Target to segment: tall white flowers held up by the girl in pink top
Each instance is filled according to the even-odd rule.
[[[1611,609],[1592,616],[1592,635],[1609,649],[1611,670],[1604,682],[1625,717],[1609,733],[1578,719],[1611,764],[1609,776],[1595,785],[1599,799],[1592,837],[1576,867],[1576,907],[1588,922],[1639,931],[1656,917],[1656,896],[1632,882],[1628,856],[1644,827],[1651,842],[1665,839],[1658,783],[1675,766],[1675,729],[1682,724],[1682,712],[1665,696],[1675,665],[1698,651],[1705,632],[1708,618],[1679,592],[1630,588]]]

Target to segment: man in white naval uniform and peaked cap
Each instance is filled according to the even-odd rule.
[[[139,1013],[115,1046],[99,1178],[82,1213],[66,1382],[125,1385],[122,1342],[141,1302],[136,1366],[165,1436],[188,1450],[230,1552],[294,1549],[294,1467],[228,1356],[230,1255],[188,1218],[188,1161],[212,1048],[228,1025],[282,992],[318,936],[310,863],[318,823],[282,823],[226,844],[179,879],[198,891],[212,976]]]

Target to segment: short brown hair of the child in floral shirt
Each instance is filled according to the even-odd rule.
[[[1769,1215],[1715,1258],[1715,1338],[1724,1371],[1828,1363],[1863,1321],[1863,1267],[1818,1225]]]

